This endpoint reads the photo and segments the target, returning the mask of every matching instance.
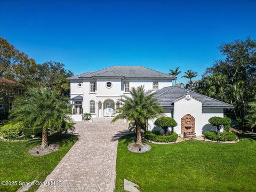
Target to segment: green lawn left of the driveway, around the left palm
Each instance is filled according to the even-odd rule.
[[[62,142],[58,137],[49,137],[50,143],[57,143],[61,148],[49,155],[34,157],[28,153],[30,148],[41,144],[41,140],[30,140],[20,142],[0,141],[0,181],[22,181],[33,180],[44,181],[51,173],[62,157],[74,145],[77,137],[67,135]],[[2,186],[0,191],[16,191],[20,186]],[[29,191],[36,191],[38,186],[33,186]]]

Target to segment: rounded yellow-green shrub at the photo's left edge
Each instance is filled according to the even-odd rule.
[[[0,135],[5,139],[14,139],[21,135],[20,124],[10,123],[0,127]]]

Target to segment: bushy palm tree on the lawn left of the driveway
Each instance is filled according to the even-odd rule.
[[[47,129],[59,129],[68,116],[68,102],[59,98],[56,91],[49,89],[29,89],[25,95],[14,100],[14,108],[10,115],[13,122],[20,122],[25,127],[34,129],[42,127],[42,148],[47,145]]]

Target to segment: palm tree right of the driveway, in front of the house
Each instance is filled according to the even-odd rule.
[[[122,103],[117,111],[117,116],[112,120],[112,123],[117,119],[128,119],[134,121],[137,127],[137,145],[141,145],[141,126],[147,123],[147,119],[156,118],[164,113],[164,109],[159,105],[154,93],[145,91],[144,85],[138,86],[136,89],[132,87],[130,91],[131,97],[122,95],[119,101]]]

